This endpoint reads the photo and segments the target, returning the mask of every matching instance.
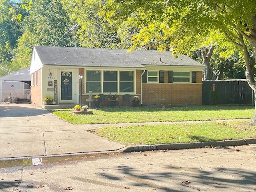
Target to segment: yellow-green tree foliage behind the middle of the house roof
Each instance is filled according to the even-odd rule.
[[[61,0],[73,23],[78,23],[79,45],[91,48],[128,48],[129,31],[110,30],[112,26],[98,14],[104,0]],[[120,28],[119,28],[120,29]]]

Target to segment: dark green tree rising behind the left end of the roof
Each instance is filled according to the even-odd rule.
[[[25,30],[31,32],[36,39],[32,45],[66,46],[73,39],[65,35],[72,24],[59,0],[33,1],[24,25]]]

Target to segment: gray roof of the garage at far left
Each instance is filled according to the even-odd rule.
[[[11,74],[0,77],[0,80],[4,81],[31,81],[31,75],[28,70],[30,67],[23,68]]]

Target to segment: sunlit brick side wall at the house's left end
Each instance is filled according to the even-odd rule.
[[[36,72],[34,72],[32,74],[32,76],[35,76],[34,80],[35,82],[33,82],[33,78],[31,81],[31,103],[35,104],[36,106],[41,107],[42,103],[42,98],[41,98],[41,87],[42,87],[42,76],[41,76],[41,69],[38,70],[38,85],[36,85]]]

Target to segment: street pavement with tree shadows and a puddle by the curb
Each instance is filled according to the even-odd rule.
[[[256,192],[255,144],[0,164],[1,192]]]

